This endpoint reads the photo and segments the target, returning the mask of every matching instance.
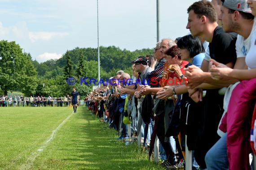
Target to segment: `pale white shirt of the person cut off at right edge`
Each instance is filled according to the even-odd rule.
[[[253,31],[251,47],[245,57],[245,63],[248,69],[256,68],[256,30]]]

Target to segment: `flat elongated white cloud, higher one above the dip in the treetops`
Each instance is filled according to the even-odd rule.
[[[44,40],[48,41],[54,37],[64,37],[67,36],[68,33],[63,32],[29,32],[28,36],[31,40],[31,43],[35,43],[36,40]]]

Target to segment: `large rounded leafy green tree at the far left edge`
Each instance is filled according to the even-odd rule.
[[[22,89],[26,95],[35,93],[37,72],[30,56],[22,53],[18,44],[0,41],[0,88],[7,95],[8,90]]]

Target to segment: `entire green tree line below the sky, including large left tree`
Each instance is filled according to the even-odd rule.
[[[136,51],[119,47],[100,47],[100,78],[115,76],[118,70],[132,73],[131,62],[140,55],[153,54],[153,49]],[[66,51],[60,59],[43,63],[32,60],[30,53],[22,53],[18,44],[0,41],[0,95],[8,91],[21,91],[25,96],[63,97],[76,87],[86,96],[92,85],[80,85],[80,77],[98,77],[97,48],[79,48]],[[75,77],[75,85],[66,83],[67,77]],[[97,80],[98,81],[98,80]]]

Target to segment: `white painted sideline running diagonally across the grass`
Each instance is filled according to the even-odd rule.
[[[62,127],[62,125],[64,123],[66,123],[66,121],[72,116],[73,114],[69,115],[65,120],[63,120],[63,122],[61,124],[59,124],[59,126],[53,130],[51,136],[49,137],[48,140],[46,140],[44,142],[44,144],[42,144],[40,146],[39,149],[36,149],[36,151],[34,153],[31,154],[30,157],[27,158],[26,160],[26,163],[23,164],[19,169],[20,170],[27,170],[27,169],[30,169],[31,166],[33,165],[34,161],[35,161],[35,158],[48,146],[48,144],[50,143],[51,140],[53,140],[53,138],[55,137],[57,131],[59,130],[59,128]]]

